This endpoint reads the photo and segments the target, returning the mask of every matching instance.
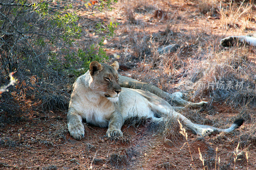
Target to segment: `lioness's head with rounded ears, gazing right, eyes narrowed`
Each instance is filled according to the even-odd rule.
[[[92,77],[89,84],[90,89],[101,96],[105,96],[111,102],[116,102],[122,90],[118,83],[118,68],[117,61],[110,66],[97,61],[90,63],[90,75]]]

